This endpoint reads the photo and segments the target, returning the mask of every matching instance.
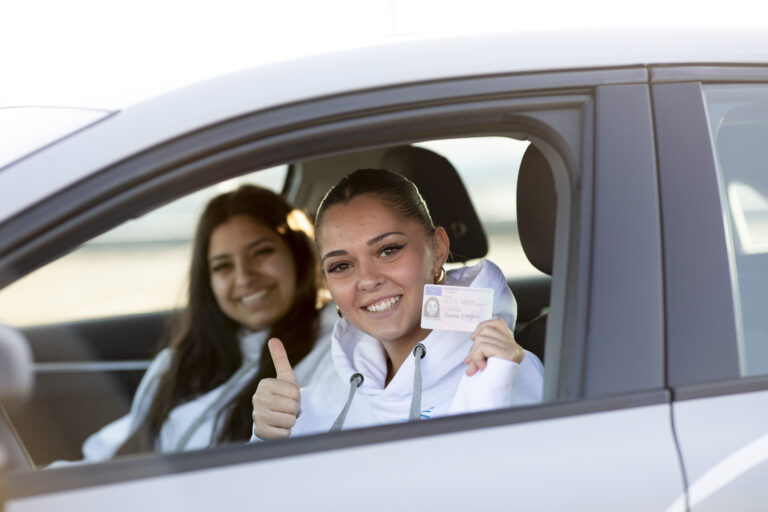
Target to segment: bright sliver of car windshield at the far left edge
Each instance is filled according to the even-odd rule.
[[[0,170],[109,114],[107,110],[66,107],[0,108]]]

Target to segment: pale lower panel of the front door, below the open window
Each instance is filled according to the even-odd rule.
[[[668,397],[663,392],[638,395],[634,400],[651,403],[605,410],[606,404],[621,400],[632,402],[612,398],[476,415],[473,422],[497,425],[427,437],[404,435],[416,431],[411,424],[350,431],[344,437],[233,446],[228,450],[239,451],[237,463],[230,453],[226,465],[187,471],[174,471],[174,463],[213,453],[86,466],[78,468],[79,478],[102,485],[17,494],[7,510],[348,510],[363,503],[374,511],[408,510],[415,503],[434,510],[568,510],[574,504],[594,511],[664,510],[683,493]],[[518,422],[498,424],[513,418]],[[419,430],[423,434],[461,419],[430,420]],[[377,437],[389,440],[375,442]],[[261,453],[270,456],[258,460]],[[136,472],[134,480],[125,481],[131,464],[154,478]],[[100,474],[89,477],[89,470]],[[20,478],[11,481],[17,493],[25,487]],[[398,491],[387,492],[390,488]]]

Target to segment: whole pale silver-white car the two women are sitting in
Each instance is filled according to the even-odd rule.
[[[0,168],[0,321],[36,372],[2,416],[7,511],[768,506],[768,33],[406,41],[75,125]],[[459,261],[506,272],[541,404],[39,470],[127,410],[206,198],[256,181],[313,211],[421,150],[459,186],[399,170],[450,199]]]

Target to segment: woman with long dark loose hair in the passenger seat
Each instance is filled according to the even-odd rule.
[[[245,185],[199,220],[178,334],[153,360],[130,413],[89,437],[86,460],[174,452],[251,436],[251,395],[274,377],[265,341],[283,340],[301,384],[330,365],[312,225],[273,192]]]

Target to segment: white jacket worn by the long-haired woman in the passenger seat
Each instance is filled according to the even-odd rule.
[[[316,376],[324,375],[331,362],[331,331],[336,313],[332,307],[320,312],[320,329],[312,351],[294,368],[296,378],[302,385],[313,382]],[[268,332],[252,332],[241,329],[238,333],[243,364],[227,382],[207,393],[174,407],[168,414],[155,442],[157,452],[194,450],[212,446],[216,440],[216,417],[230,400],[237,395],[258,370],[261,350]],[[161,351],[149,365],[133,397],[130,412],[92,434],[83,443],[83,462],[97,462],[115,455],[128,436],[144,419],[152,398],[157,391],[160,377],[171,362],[171,349]],[[256,391],[255,389],[253,390]],[[54,463],[54,465],[60,465]]]

